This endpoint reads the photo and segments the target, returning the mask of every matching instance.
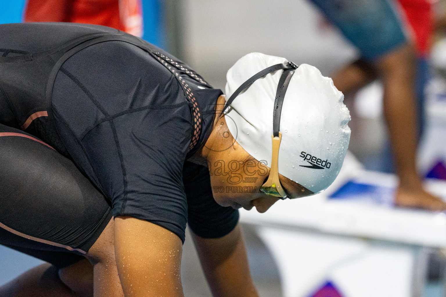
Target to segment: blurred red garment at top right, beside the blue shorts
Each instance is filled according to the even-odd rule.
[[[431,0],[398,0],[410,25],[420,57],[427,57],[434,33],[434,11]]]

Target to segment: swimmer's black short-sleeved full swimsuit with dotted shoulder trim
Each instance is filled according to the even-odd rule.
[[[221,94],[115,29],[0,25],[0,243],[82,255],[111,216],[183,242],[186,222],[205,238],[226,235],[238,212],[215,203],[206,167],[186,161],[211,133]]]

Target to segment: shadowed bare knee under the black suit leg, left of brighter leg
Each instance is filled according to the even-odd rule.
[[[93,266],[87,259],[59,269],[58,276],[76,296],[93,297]]]

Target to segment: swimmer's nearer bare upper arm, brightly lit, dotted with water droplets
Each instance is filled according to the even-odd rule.
[[[115,219],[115,254],[125,296],[182,297],[182,241],[156,224]]]

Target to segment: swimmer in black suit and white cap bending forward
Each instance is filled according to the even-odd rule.
[[[342,94],[331,80],[309,65],[291,69],[283,58],[251,54],[232,68],[227,93],[241,85],[237,80],[285,65],[238,98],[256,98],[264,82],[275,81],[274,90],[258,98],[261,104],[249,103],[260,114],[268,109],[266,118],[246,114],[236,102],[220,116],[226,100],[221,90],[175,57],[118,30],[2,24],[0,36],[0,244],[50,263],[2,286],[0,296],[183,296],[186,222],[214,296],[257,296],[236,209],[265,212],[280,198],[312,195],[335,179],[350,131]],[[247,61],[253,67],[239,71]],[[272,134],[282,72],[296,72],[289,92],[319,94],[307,103],[316,107],[307,107],[321,114],[305,118],[305,110],[293,108],[298,98],[287,95],[281,125],[289,132],[281,148],[314,149],[312,155],[330,158],[331,167],[314,173],[307,168],[312,159],[298,161],[300,151],[279,153],[277,147],[275,168],[288,175],[274,179],[286,193],[277,197],[258,189],[274,175],[264,165],[274,163],[272,138],[261,134]],[[302,80],[310,89],[298,86]],[[324,122],[322,111],[333,106],[341,111]],[[342,149],[316,151],[325,140],[309,145],[314,131],[298,138],[296,114],[321,131],[341,126],[326,141],[338,138]],[[237,125],[242,133],[256,121],[264,130],[259,126],[240,143],[269,155],[264,160],[234,136]],[[262,148],[262,142],[268,144]],[[297,161],[305,166],[286,168]],[[305,182],[292,180],[299,178]]]

